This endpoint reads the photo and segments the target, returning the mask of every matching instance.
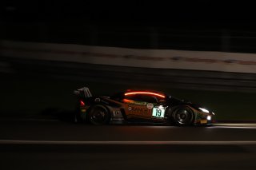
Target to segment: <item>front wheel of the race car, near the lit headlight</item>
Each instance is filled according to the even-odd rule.
[[[179,106],[172,114],[174,124],[179,126],[193,125],[194,113],[187,106]]]

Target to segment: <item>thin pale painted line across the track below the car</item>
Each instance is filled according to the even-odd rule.
[[[62,141],[62,140],[0,140],[0,144],[128,144],[128,145],[150,145],[150,144],[201,144],[201,145],[244,145],[256,144],[256,140],[234,140],[234,141]]]

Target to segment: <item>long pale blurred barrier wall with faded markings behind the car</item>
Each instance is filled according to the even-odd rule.
[[[2,56],[156,69],[256,73],[255,53],[131,49],[94,45],[0,41]]]

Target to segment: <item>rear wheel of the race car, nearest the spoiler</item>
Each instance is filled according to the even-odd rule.
[[[110,113],[103,105],[95,105],[90,109],[89,120],[93,125],[106,125],[110,122]]]

